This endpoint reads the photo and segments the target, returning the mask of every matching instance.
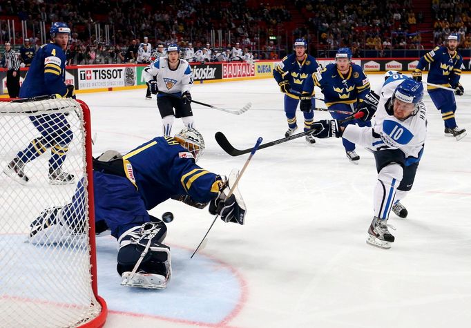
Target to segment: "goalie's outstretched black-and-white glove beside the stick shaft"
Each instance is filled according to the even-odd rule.
[[[209,213],[219,214],[224,222],[234,222],[244,224],[245,213],[247,213],[244,200],[238,186],[233,188],[233,184],[239,176],[239,170],[233,169],[229,175],[229,179],[219,191],[218,197],[209,203]],[[227,197],[232,191],[232,195]]]

